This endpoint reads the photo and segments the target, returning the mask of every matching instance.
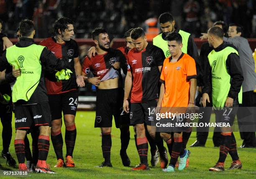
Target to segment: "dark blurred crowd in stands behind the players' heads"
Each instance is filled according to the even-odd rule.
[[[18,22],[33,20],[36,38],[51,35],[54,21],[62,16],[75,22],[76,38],[91,38],[95,27],[104,27],[112,38],[141,26],[147,30],[161,13],[172,13],[177,27],[200,37],[215,21],[238,23],[244,37],[256,37],[256,0],[0,0],[3,32],[14,38]],[[159,31],[160,32],[160,31]]]

